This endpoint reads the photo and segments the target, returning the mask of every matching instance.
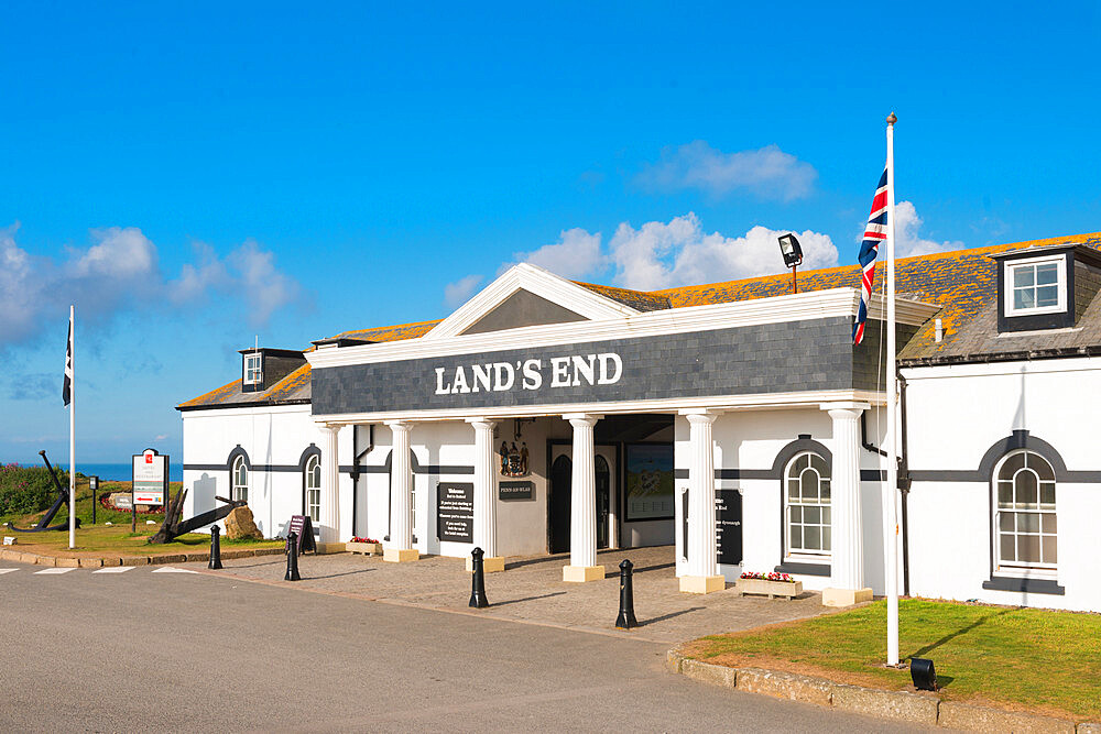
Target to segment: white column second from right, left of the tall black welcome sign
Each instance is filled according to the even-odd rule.
[[[715,545],[715,414],[686,415],[689,426],[688,467],[688,573],[680,577],[680,591],[706,594],[726,589],[719,576]]]

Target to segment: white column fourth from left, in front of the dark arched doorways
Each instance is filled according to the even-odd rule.
[[[562,569],[563,581],[593,581],[604,578],[597,566],[597,468],[592,428],[601,416],[574,413],[563,416],[574,427],[573,475],[570,478],[569,566]]]

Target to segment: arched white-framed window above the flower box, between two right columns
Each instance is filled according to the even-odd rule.
[[[814,451],[796,454],[784,471],[784,530],[788,555],[830,555],[829,464]]]

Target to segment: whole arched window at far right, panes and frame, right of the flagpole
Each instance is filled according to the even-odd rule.
[[[1007,453],[994,472],[994,554],[1000,568],[1055,569],[1055,471],[1028,450]]]

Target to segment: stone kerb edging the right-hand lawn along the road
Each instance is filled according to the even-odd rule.
[[[732,668],[685,657],[677,648],[666,654],[665,665],[669,672],[712,686],[926,726],[969,732],[1101,734],[1101,723],[1082,722],[1076,726],[1066,719],[941,701],[933,694],[849,686],[781,670]]]

